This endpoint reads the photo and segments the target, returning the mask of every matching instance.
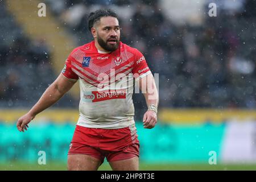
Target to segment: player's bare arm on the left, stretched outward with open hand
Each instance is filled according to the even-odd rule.
[[[55,104],[55,102],[60,100],[75,83],[75,81],[69,81],[60,73],[59,77],[46,89],[39,101],[36,102],[30,111],[18,119],[16,124],[18,130],[23,132],[24,129],[27,130],[28,123],[35,118],[36,114],[39,114],[49,106]]]

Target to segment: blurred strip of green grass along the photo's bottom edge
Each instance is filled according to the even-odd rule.
[[[46,165],[32,164],[32,163],[22,163],[22,162],[7,162],[0,163],[1,171],[65,171],[67,170],[66,163],[60,162],[49,162]],[[99,170],[109,171],[112,170],[108,163],[101,165]],[[254,170],[256,171],[256,164],[140,164],[140,170],[151,171],[236,171],[236,170]]]

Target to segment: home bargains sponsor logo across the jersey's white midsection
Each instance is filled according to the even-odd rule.
[[[82,96],[82,101],[84,102],[100,102],[118,98],[126,98],[126,92],[124,89],[120,90],[102,90],[92,91],[92,92],[84,92]]]

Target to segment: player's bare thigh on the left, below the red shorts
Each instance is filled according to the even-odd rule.
[[[69,154],[69,171],[96,171],[101,165],[101,160],[85,154]]]

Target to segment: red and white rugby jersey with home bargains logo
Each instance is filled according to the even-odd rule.
[[[92,41],[71,52],[62,73],[80,83],[77,125],[119,129],[134,125],[134,79],[151,72],[138,49],[120,42],[117,50],[102,52]]]

